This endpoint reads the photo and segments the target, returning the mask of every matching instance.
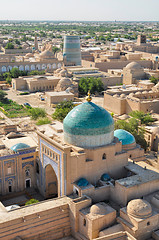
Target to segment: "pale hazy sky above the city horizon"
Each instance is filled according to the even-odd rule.
[[[159,21],[159,0],[0,0],[0,20]]]

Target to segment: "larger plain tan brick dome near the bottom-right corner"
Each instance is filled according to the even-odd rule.
[[[134,199],[127,205],[127,213],[137,218],[147,218],[152,215],[150,203],[143,199]]]

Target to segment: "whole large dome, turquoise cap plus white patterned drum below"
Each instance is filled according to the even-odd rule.
[[[113,118],[92,102],[73,108],[65,117],[63,126],[65,141],[79,147],[103,146],[113,140]]]

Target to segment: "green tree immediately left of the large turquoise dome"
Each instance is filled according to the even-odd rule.
[[[62,122],[73,107],[74,105],[72,101],[63,101],[57,104],[55,112],[52,114],[52,118]]]

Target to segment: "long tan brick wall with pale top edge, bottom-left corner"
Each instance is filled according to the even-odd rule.
[[[68,202],[63,197],[2,213],[0,239],[19,236],[25,240],[53,240],[70,236]]]

